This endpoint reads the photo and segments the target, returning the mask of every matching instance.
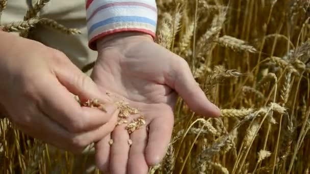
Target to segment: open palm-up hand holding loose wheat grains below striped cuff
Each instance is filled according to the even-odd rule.
[[[148,35],[120,33],[97,42],[98,59],[91,77],[102,92],[138,108],[146,125],[128,134],[125,125],[96,143],[96,161],[111,173],[147,173],[166,153],[173,129],[176,92],[195,112],[209,117],[219,109],[204,95],[181,57]],[[176,92],[175,92],[176,91]],[[132,115],[132,119],[140,114]],[[149,130],[147,130],[149,127]],[[113,144],[109,146],[109,139]],[[133,141],[128,145],[128,139]]]

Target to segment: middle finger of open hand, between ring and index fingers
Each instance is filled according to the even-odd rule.
[[[128,160],[128,173],[132,174],[145,174],[148,171],[148,165],[144,157],[144,150],[147,144],[147,131],[143,127],[141,129],[135,130],[131,135],[131,140],[133,142]]]

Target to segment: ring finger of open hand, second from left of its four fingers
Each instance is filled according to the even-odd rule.
[[[111,146],[111,173],[125,174],[127,172],[127,160],[130,146],[130,139],[124,125],[117,126],[112,132],[113,144]]]

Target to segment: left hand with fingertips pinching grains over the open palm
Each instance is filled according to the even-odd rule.
[[[81,107],[74,99],[101,94],[66,55],[9,33],[0,31],[0,38],[0,106],[18,129],[72,152],[114,129],[118,109],[108,99],[100,98],[107,112]]]

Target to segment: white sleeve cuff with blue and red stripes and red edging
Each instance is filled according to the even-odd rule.
[[[155,0],[87,0],[89,47],[96,50],[96,40],[118,32],[156,33]]]

